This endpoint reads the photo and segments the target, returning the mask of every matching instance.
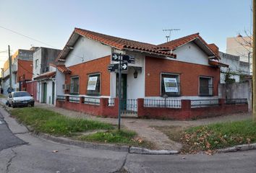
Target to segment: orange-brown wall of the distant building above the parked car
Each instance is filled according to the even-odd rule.
[[[33,61],[18,60],[17,68],[17,82],[23,81],[23,76],[25,75],[25,80],[32,80],[33,77]]]

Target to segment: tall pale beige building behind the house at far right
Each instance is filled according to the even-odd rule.
[[[240,61],[249,62],[246,71],[252,75],[252,37],[243,37],[242,35],[228,37],[226,39],[226,53],[239,56]],[[244,66],[244,68],[246,67]]]

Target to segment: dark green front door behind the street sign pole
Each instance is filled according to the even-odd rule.
[[[119,74],[116,74],[116,97],[119,96]],[[121,74],[121,110],[127,108],[127,74]]]

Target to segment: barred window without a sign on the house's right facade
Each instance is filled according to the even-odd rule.
[[[213,78],[200,77],[199,78],[199,95],[212,96],[213,95]]]

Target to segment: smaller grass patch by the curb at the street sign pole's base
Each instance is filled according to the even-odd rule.
[[[76,139],[80,141],[116,143],[153,148],[152,143],[142,140],[142,138],[137,136],[137,133],[131,130],[108,130],[106,132],[93,133],[88,136],[77,136]]]

